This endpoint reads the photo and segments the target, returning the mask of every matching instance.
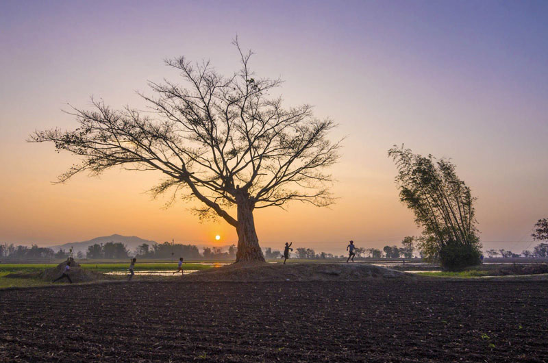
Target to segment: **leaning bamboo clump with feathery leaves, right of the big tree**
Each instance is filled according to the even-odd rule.
[[[479,264],[481,245],[475,227],[471,190],[458,178],[451,162],[426,158],[410,149],[388,151],[398,168],[400,200],[423,227],[419,248],[427,258],[439,258],[446,268]]]

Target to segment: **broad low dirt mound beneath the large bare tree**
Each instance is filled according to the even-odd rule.
[[[413,275],[371,264],[232,264],[186,275],[187,281],[362,281],[415,279]]]

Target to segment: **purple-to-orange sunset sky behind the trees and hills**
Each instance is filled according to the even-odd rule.
[[[0,242],[236,242],[192,204],[152,199],[154,173],[53,184],[77,159],[25,140],[74,129],[63,110],[90,108],[90,96],[145,108],[136,91],[150,94],[147,81],[177,80],[166,58],[231,74],[237,35],[258,75],[284,79],[286,105],[314,105],[339,124],[332,140],[345,137],[337,203],[258,210],[262,247],[343,253],[350,239],[378,248],[420,234],[387,157],[404,143],[456,164],[478,198],[484,249],[532,248],[548,216],[547,18],[546,1],[1,1]]]

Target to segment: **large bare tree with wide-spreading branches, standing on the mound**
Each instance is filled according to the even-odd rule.
[[[234,45],[241,68],[230,77],[209,62],[166,60],[184,85],[149,82],[155,97],[140,95],[153,112],[112,110],[92,99],[93,110],[73,108],[77,129],[35,132],[31,141],[51,141],[82,157],[60,182],[114,166],[160,171],[165,179],[154,195],[170,190],[172,201],[177,193],[198,199],[200,218],[220,216],[236,227],[236,262],[264,260],[253,210],[288,201],[333,203],[325,169],[338,160],[340,142],[327,139],[334,121],[314,118],[310,105],[283,108],[281,98],[270,97],[281,81],[258,78],[249,69],[253,53]]]

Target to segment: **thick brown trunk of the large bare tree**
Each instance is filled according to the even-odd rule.
[[[262,261],[259,238],[255,231],[255,221],[253,221],[253,203],[242,195],[236,197],[238,204],[238,252],[236,253],[236,262]]]

